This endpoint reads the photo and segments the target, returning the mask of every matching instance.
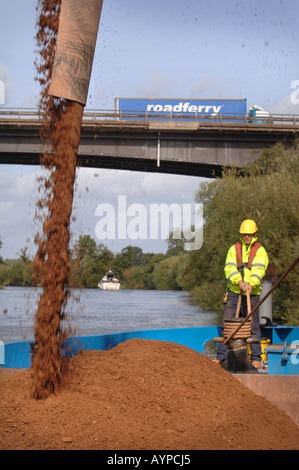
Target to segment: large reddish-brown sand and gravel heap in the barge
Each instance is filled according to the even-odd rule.
[[[32,371],[0,381],[0,449],[299,449],[299,428],[209,358],[132,339],[72,359],[32,398]]]

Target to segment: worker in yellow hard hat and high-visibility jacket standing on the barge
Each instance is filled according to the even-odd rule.
[[[259,293],[262,290],[262,279],[268,266],[268,255],[265,248],[257,242],[257,225],[253,220],[247,219],[240,227],[241,241],[231,246],[225,260],[225,277],[227,279],[227,300],[224,307],[223,320],[235,318],[237,303],[242,293],[240,318],[245,318],[247,312],[247,292],[250,294],[251,310],[259,302]],[[223,328],[221,335],[223,336]],[[251,336],[258,338],[252,343],[251,363],[255,368],[261,367],[261,330],[258,310],[251,317]],[[226,359],[226,345],[218,344],[217,359],[222,363]]]

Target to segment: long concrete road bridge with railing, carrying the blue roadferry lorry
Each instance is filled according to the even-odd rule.
[[[213,177],[223,166],[241,168],[263,148],[290,145],[299,135],[298,115],[271,115],[262,123],[246,115],[234,122],[171,118],[86,110],[78,166]],[[0,109],[0,163],[39,165],[49,150],[40,140],[41,125],[36,110]]]

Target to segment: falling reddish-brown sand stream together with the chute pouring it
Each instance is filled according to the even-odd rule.
[[[48,171],[39,182],[42,233],[36,236],[34,259],[34,275],[43,287],[32,361],[36,398],[53,393],[61,382],[61,344],[65,339],[61,320],[68,297],[76,156],[101,6],[101,0],[88,0],[84,5],[77,0],[40,0],[37,7],[36,66],[44,122],[41,137],[49,150],[41,157]]]

